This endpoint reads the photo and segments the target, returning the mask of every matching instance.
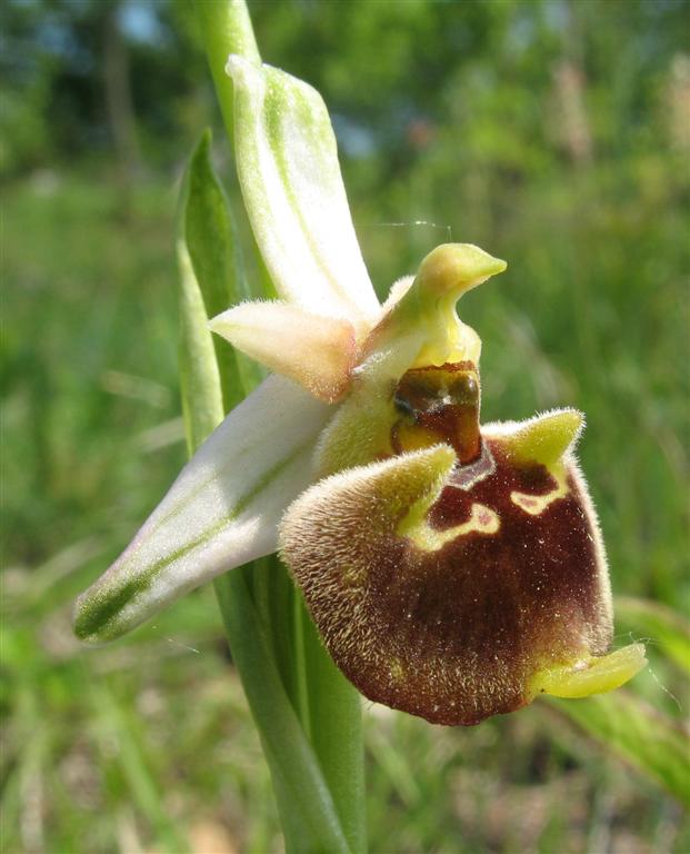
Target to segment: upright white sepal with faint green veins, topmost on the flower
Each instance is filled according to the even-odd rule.
[[[346,197],[336,137],[307,83],[239,56],[237,167],[259,248],[280,297],[366,332],[380,314]]]

